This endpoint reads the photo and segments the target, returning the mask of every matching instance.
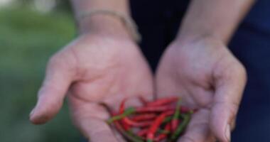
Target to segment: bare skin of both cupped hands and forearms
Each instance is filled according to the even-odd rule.
[[[129,15],[126,0],[73,0],[72,4],[80,36],[48,62],[38,102],[30,114],[33,124],[52,119],[68,97],[72,120],[86,138],[124,141],[104,122],[109,113],[99,103],[115,110],[126,97],[143,94],[152,99],[155,91],[157,97],[180,94],[185,105],[198,109],[180,142],[229,141],[246,72],[226,43],[252,0],[194,0],[178,37],[163,54],[155,82],[119,19],[79,16],[88,9]],[[139,105],[136,99],[127,104]]]

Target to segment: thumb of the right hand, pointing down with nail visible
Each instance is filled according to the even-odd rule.
[[[244,67],[229,67],[215,74],[215,97],[210,129],[220,141],[230,141],[231,124],[236,117],[246,83]]]

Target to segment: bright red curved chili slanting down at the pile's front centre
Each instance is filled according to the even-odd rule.
[[[165,111],[162,114],[160,114],[155,121],[153,121],[153,124],[150,126],[149,131],[147,133],[147,142],[152,142],[154,134],[158,130],[158,127],[162,124],[162,121],[166,118],[168,115],[172,115],[173,111]]]

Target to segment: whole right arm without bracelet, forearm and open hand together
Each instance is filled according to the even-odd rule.
[[[246,84],[226,44],[253,0],[193,0],[156,75],[158,96],[179,94],[194,114],[181,142],[229,142]]]

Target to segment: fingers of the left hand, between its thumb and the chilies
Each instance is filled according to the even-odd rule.
[[[105,120],[109,118],[109,114],[104,107],[91,102],[85,103],[74,95],[68,95],[68,97],[73,123],[89,141],[123,141],[106,123]]]

